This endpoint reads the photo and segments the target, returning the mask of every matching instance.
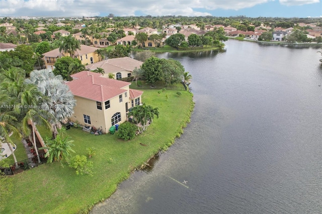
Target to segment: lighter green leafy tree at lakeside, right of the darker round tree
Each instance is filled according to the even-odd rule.
[[[166,85],[174,84],[182,79],[185,68],[179,61],[174,59],[160,59],[159,61],[162,65]]]

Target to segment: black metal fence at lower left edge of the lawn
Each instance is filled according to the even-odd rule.
[[[40,163],[38,161],[38,156],[40,159]],[[20,172],[23,172],[28,169],[32,169],[40,164],[46,163],[47,158],[45,158],[45,154],[40,154],[38,156],[34,156],[32,158],[28,158],[22,161],[18,161],[17,163],[10,164],[10,167],[1,167],[0,170],[5,175],[14,175]]]

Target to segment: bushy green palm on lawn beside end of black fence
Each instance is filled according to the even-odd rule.
[[[45,154],[45,157],[47,157],[47,162],[51,163],[53,161],[58,162],[69,162],[69,159],[71,157],[71,152],[75,152],[72,150],[72,140],[69,140],[70,137],[62,137],[62,135],[57,135],[54,140],[48,138],[46,136],[45,138],[45,146],[41,147],[39,149],[48,149],[47,153]]]

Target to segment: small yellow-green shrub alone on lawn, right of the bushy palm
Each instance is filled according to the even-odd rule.
[[[72,157],[70,159],[69,167],[74,168],[76,170],[77,175],[93,174],[93,162],[87,161],[87,157],[85,155],[76,155]]]

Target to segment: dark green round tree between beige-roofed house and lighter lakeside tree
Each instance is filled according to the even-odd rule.
[[[160,64],[160,59],[152,56],[145,60],[141,65],[143,70],[143,76],[147,83],[151,84],[151,87],[154,87],[154,83],[162,79],[163,71],[162,65]]]

